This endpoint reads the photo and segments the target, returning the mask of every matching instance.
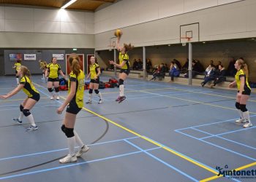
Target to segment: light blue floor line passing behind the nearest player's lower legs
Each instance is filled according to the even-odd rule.
[[[115,141],[105,141],[105,142],[101,142],[101,143],[94,143],[94,144],[91,144],[91,145],[88,145],[88,146],[97,146],[97,145],[102,145],[102,144],[105,144],[105,143],[114,143],[114,142],[118,142],[118,141],[124,141],[124,139],[125,140],[131,140],[131,139],[134,139],[134,138],[139,138],[139,137],[136,136],[136,137],[131,137],[131,138],[118,139],[118,140],[115,140]],[[20,155],[20,156],[6,157],[6,158],[1,158],[0,161],[7,160],[7,159],[16,159],[16,158],[20,158],[20,157],[29,157],[29,156],[40,155],[40,154],[48,154],[48,153],[51,153],[51,152],[65,151],[65,150],[67,150],[67,148],[51,150],[51,151],[42,151],[42,152],[37,152],[37,153],[33,153],[33,154],[25,154],[25,155]]]

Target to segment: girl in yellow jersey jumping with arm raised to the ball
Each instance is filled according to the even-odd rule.
[[[119,96],[116,99],[116,101],[118,103],[121,103],[123,100],[126,99],[126,97],[124,96],[124,80],[127,79],[127,76],[129,74],[129,70],[130,70],[130,64],[129,64],[129,55],[127,54],[127,52],[129,50],[132,50],[132,45],[131,44],[124,44],[124,47],[120,46],[120,38],[121,36],[117,37],[117,41],[116,41],[116,49],[119,51],[119,63],[117,64],[115,63],[113,60],[110,60],[110,64],[121,68],[120,74],[119,74]]]

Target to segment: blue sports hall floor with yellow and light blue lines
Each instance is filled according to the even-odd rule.
[[[56,109],[67,92],[50,100],[40,76],[32,80],[41,95],[31,111],[39,130],[26,132],[26,118],[12,122],[23,92],[0,100],[0,181],[255,181],[218,176],[218,169],[256,170],[255,93],[247,104],[255,125],[245,129],[235,123],[236,91],[127,79],[123,103],[115,101],[118,88],[108,88],[100,90],[103,104],[95,94],[85,104],[75,130],[90,150],[62,165],[67,139]],[[15,78],[0,77],[0,85],[0,94],[10,92]]]

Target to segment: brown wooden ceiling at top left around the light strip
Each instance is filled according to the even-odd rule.
[[[13,6],[38,6],[38,7],[52,7],[60,8],[64,4],[67,4],[69,0],[0,0],[1,4],[11,4]],[[78,0],[71,4],[66,9],[78,9],[95,11],[102,4],[113,4],[116,0]]]

